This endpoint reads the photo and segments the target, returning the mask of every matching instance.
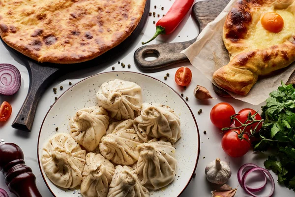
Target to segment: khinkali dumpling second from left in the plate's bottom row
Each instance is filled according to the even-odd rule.
[[[107,197],[114,173],[115,166],[109,160],[88,153],[80,189],[83,197]]]

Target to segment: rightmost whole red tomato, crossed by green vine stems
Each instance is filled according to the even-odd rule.
[[[251,115],[254,115],[256,113],[256,111],[253,109],[245,108],[245,109],[242,109],[238,112],[238,115],[236,115],[236,119],[238,119],[243,124],[251,123],[252,121],[249,121],[249,120],[247,121],[249,112],[251,113]],[[255,115],[254,118],[256,120],[261,120],[261,116],[258,113]],[[256,125],[258,125],[258,124],[259,124],[259,122],[253,123],[252,125],[247,126],[245,128],[244,132],[247,132],[250,135],[251,134],[250,129],[252,128],[252,131],[253,131],[254,128],[256,127]],[[239,127],[239,126],[241,126],[241,124],[235,120],[235,126]],[[262,123],[260,123],[257,126],[256,132],[260,131],[261,127],[262,127]],[[239,129],[243,131],[244,127],[241,127]]]

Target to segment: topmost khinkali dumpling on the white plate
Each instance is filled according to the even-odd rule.
[[[133,82],[115,79],[103,83],[96,93],[98,105],[117,120],[134,119],[142,105],[141,87]]]

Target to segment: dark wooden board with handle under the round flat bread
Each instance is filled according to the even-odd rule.
[[[79,64],[59,65],[52,63],[38,63],[18,51],[10,48],[3,42],[8,50],[15,53],[21,61],[25,64],[29,71],[29,92],[25,99],[19,113],[12,123],[12,127],[22,131],[31,131],[35,118],[36,108],[43,92],[50,86],[57,78],[65,73],[85,69],[88,67],[102,66],[102,64],[116,59],[122,55],[126,48],[128,48],[145,27],[150,8],[150,0],[147,0],[144,14],[136,29],[127,37],[122,43],[115,48],[102,54],[101,56]]]

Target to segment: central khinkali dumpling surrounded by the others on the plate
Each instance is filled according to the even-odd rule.
[[[100,154],[119,165],[134,164],[139,157],[136,146],[143,141],[138,137],[133,120],[125,120],[117,125],[112,133],[101,138]]]

